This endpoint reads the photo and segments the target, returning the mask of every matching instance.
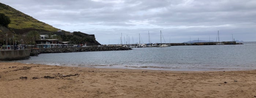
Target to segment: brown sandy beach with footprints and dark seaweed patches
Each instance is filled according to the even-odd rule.
[[[0,63],[1,98],[255,98],[255,95],[256,71],[180,72]]]

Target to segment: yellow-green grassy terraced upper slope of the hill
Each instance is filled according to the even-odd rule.
[[[0,13],[5,14],[11,20],[11,23],[8,27],[12,29],[36,29],[36,30],[44,30],[44,31],[57,31],[58,29],[50,26],[44,22],[40,22],[33,17],[26,15],[14,8],[0,3]]]

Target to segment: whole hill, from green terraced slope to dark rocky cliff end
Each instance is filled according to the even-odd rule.
[[[26,34],[29,31],[36,30],[40,34],[48,34],[59,30],[3,3],[0,3],[0,13],[5,14],[11,20],[7,28],[0,27],[0,43],[3,43],[3,39],[6,38],[5,34],[8,34],[7,39],[14,35],[14,40],[19,41],[22,39],[25,42],[29,42],[30,39],[26,38]],[[74,35],[59,36],[62,39],[61,41],[72,41],[72,44],[100,45],[94,36],[81,32],[74,33]]]

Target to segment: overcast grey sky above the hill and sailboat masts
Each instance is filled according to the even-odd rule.
[[[100,44],[189,40],[256,41],[256,0],[0,0],[65,31],[95,34]],[[149,34],[148,34],[149,32]],[[150,35],[150,37],[149,37]],[[129,39],[128,39],[129,38]],[[162,38],[162,43],[164,42]],[[125,40],[124,40],[125,39]]]

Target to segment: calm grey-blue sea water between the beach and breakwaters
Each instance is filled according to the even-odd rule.
[[[122,51],[48,53],[15,62],[170,71],[252,70],[256,69],[256,42],[245,42],[244,45],[171,46]]]

